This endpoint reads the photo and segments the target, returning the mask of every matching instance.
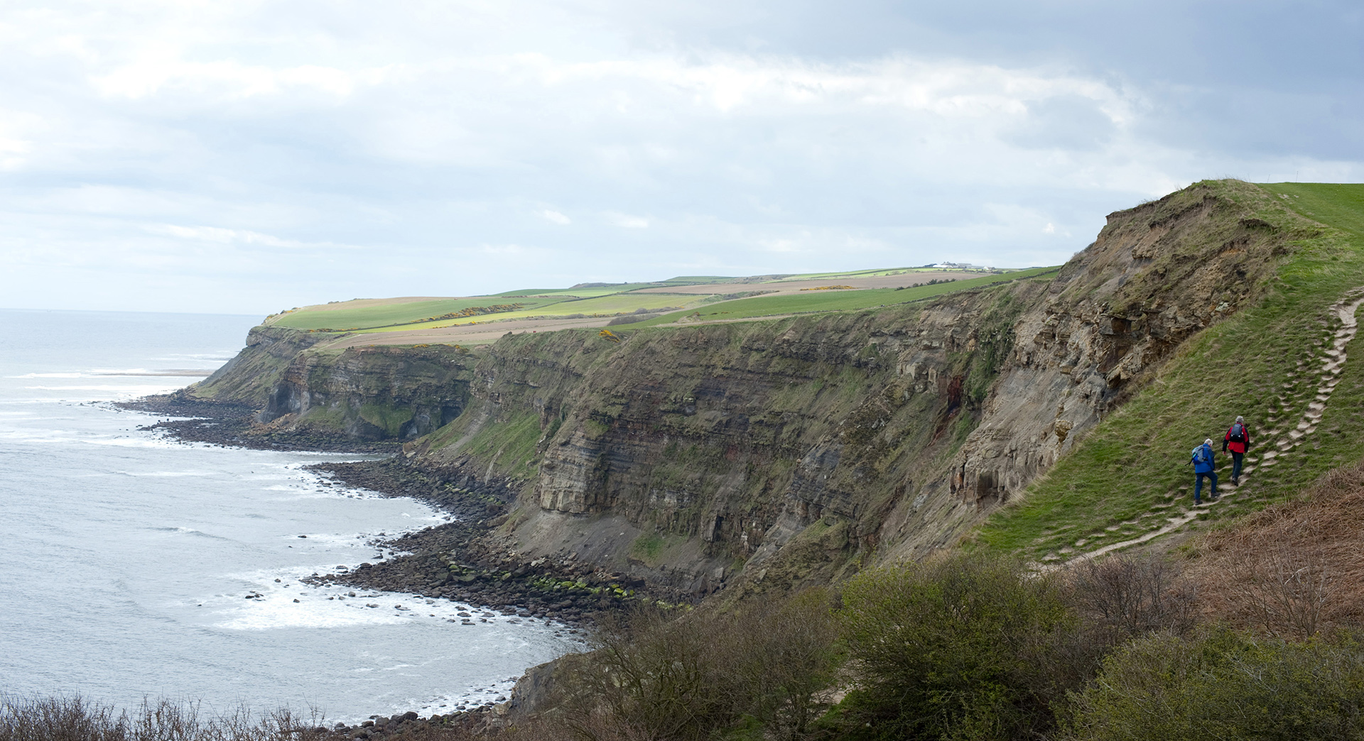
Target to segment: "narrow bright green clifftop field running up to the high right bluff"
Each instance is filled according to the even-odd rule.
[[[679,319],[696,317],[697,313],[700,313],[700,319],[709,320],[709,319],[757,319],[764,316],[782,316],[788,313],[872,309],[876,306],[888,306],[891,304],[906,304],[910,301],[932,298],[934,296],[941,296],[944,293],[955,290],[989,286],[992,283],[1018,281],[1020,278],[1031,278],[1034,275],[1041,275],[1043,272],[1050,272],[1054,270],[1057,268],[1034,267],[1027,270],[1016,270],[1000,275],[983,275],[981,278],[971,278],[968,281],[953,281],[949,283],[936,283],[932,286],[914,286],[903,290],[902,289],[809,290],[809,291],[788,293],[782,296],[756,296],[753,298],[735,298],[732,301],[708,304],[700,309],[685,309],[681,312],[667,313],[657,319],[640,321],[638,324],[630,324],[630,328],[672,324]],[[754,289],[760,289],[764,285],[765,283],[752,283]]]

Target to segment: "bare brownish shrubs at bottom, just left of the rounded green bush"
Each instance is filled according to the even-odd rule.
[[[829,706],[836,637],[822,590],[607,618],[596,650],[569,657],[555,677],[551,715],[591,741],[700,740],[746,723],[802,738]]]

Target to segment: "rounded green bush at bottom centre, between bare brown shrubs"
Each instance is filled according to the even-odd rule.
[[[1053,578],[998,558],[876,569],[843,593],[854,692],[840,708],[859,738],[1013,738],[1049,722],[1043,674],[1071,632]]]

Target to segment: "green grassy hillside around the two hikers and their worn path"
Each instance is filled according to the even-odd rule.
[[[1356,338],[1315,430],[1274,464],[1262,458],[1274,450],[1263,444],[1267,430],[1285,440],[1308,405],[1323,400],[1319,370],[1341,326],[1329,308],[1364,286],[1364,185],[1222,187],[1243,219],[1299,237],[1264,298],[1188,341],[1147,388],[986,520],[975,545],[1060,560],[1157,531],[1192,504],[1189,450],[1204,437],[1219,441],[1237,414],[1262,443],[1247,456],[1255,470],[1183,530],[1292,497],[1364,452],[1364,342]],[[1219,463],[1225,482],[1230,456]]]

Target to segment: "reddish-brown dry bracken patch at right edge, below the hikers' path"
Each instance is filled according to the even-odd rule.
[[[1203,614],[1282,637],[1364,624],[1364,462],[1304,494],[1198,543]]]

